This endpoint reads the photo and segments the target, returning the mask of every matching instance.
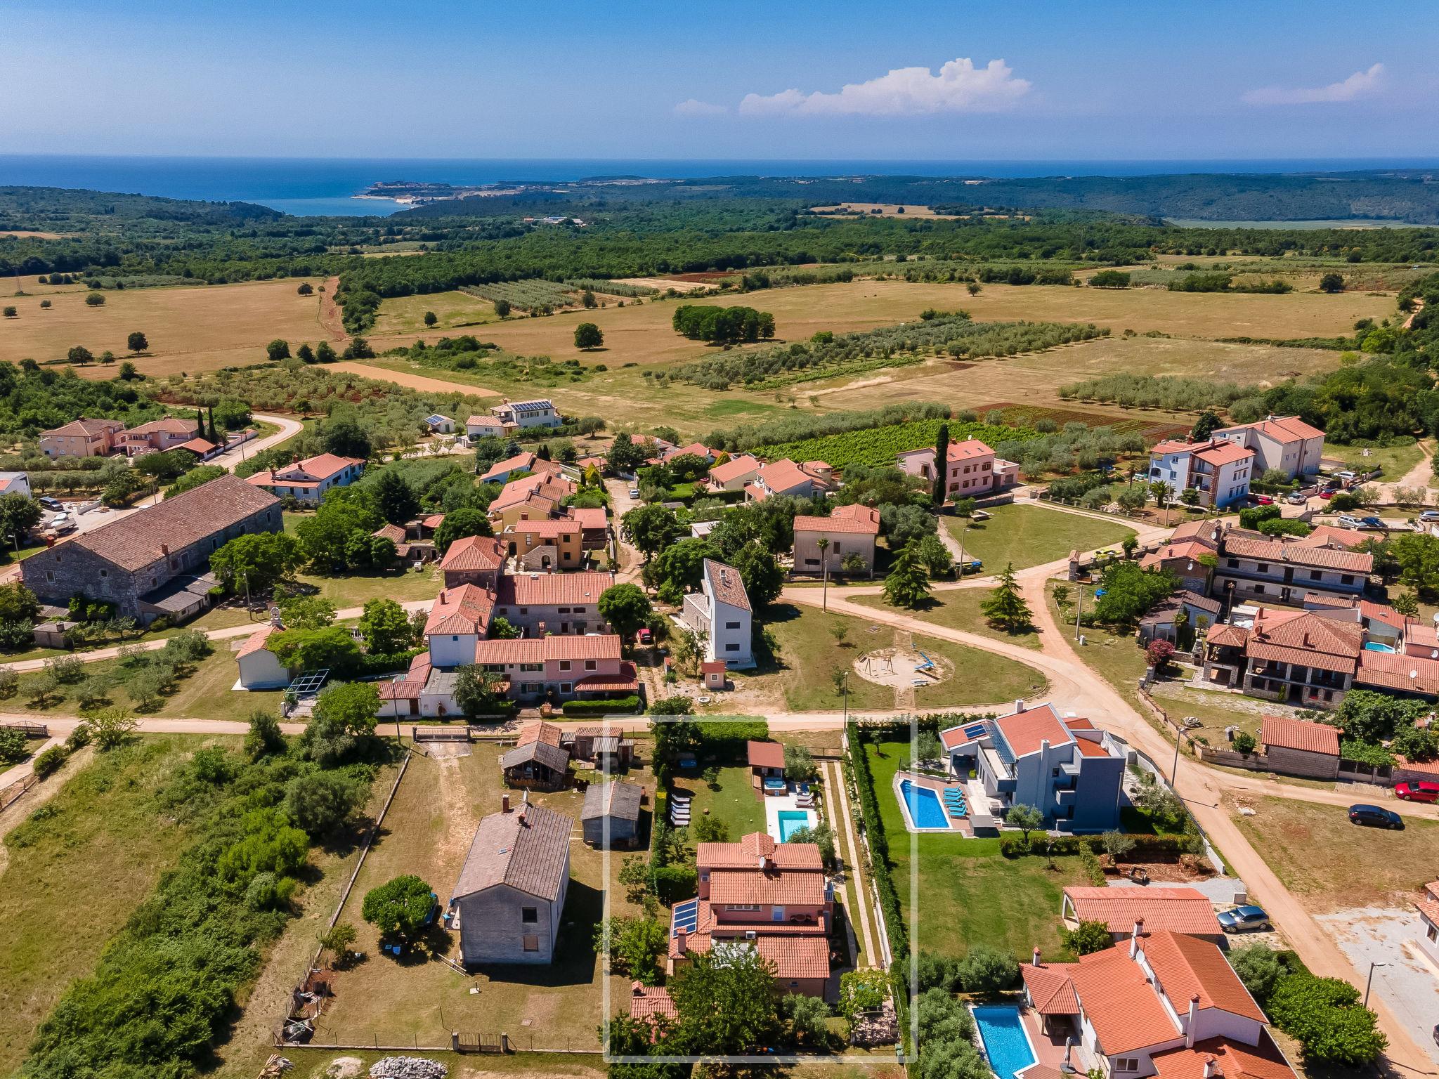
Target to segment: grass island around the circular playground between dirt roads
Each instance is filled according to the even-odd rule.
[[[848,629],[843,645],[837,645],[830,633],[836,626]],[[850,670],[852,711],[907,706],[898,699],[904,691],[896,692],[894,686],[869,682],[853,670],[861,656],[876,649],[894,647],[895,630],[871,626],[862,619],[789,604],[773,607],[766,617],[766,627],[778,643],[776,663],[760,666],[754,672],[734,672],[731,679],[737,689],[750,695],[783,695],[784,705],[793,711],[839,709],[845,701],[835,691],[833,676],[836,670]],[[914,646],[944,660],[951,669],[948,679],[914,691],[914,706],[953,708],[993,704],[1029,696],[1036,686],[1045,683],[1043,675],[1038,670],[1004,656],[935,637],[915,637]],[[737,705],[743,708],[743,704]]]

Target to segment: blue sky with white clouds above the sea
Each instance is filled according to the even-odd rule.
[[[1433,4],[0,0],[0,20],[6,152],[1439,154]]]

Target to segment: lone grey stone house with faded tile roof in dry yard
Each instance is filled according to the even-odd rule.
[[[509,809],[508,796],[505,803],[475,829],[449,901],[466,967],[550,962],[560,937],[574,821],[528,801]]]

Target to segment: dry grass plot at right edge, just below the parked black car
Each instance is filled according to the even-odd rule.
[[[1409,906],[1433,879],[1439,823],[1409,817],[1403,832],[1360,829],[1341,806],[1258,798],[1239,827],[1284,886],[1317,914]]]

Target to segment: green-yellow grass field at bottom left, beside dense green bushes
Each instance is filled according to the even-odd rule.
[[[20,1065],[60,993],[94,970],[180,852],[184,829],[160,813],[155,794],[212,741],[239,739],[150,737],[86,751],[52,780],[63,786],[42,809],[0,819],[10,829],[0,850],[0,1072]]]

